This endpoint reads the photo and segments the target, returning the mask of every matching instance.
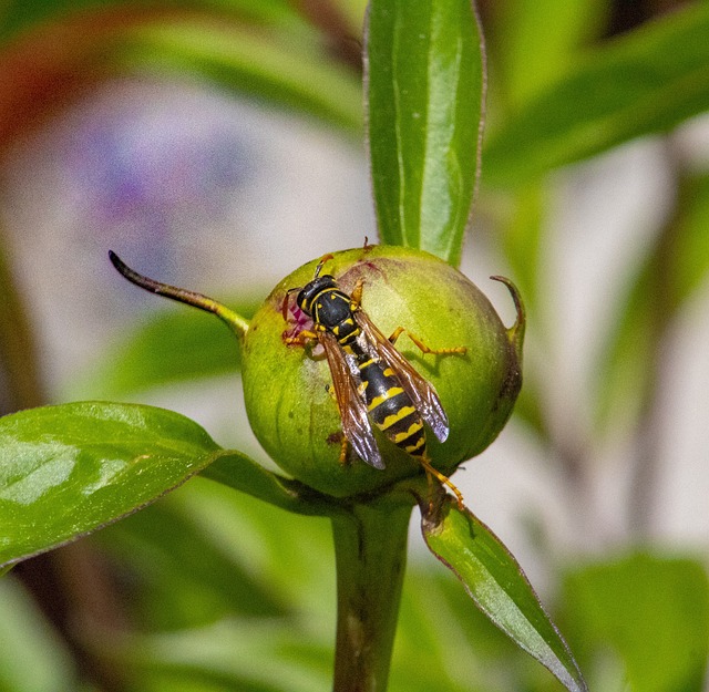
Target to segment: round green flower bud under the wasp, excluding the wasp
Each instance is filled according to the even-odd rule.
[[[350,453],[340,459],[341,422],[321,349],[288,343],[312,322],[288,290],[312,280],[317,260],[284,279],[256,313],[244,339],[243,382],[249,422],[266,452],[310,487],[347,497],[377,492],[423,473],[409,454],[374,436],[386,464],[377,469]],[[420,250],[370,246],[337,252],[322,273],[351,293],[362,280],[361,308],[389,337],[403,327],[431,349],[465,347],[465,354],[422,353],[403,333],[397,349],[436,390],[450,434],[440,443],[427,433],[432,465],[450,474],[480,454],[510,417],[522,383],[523,317],[507,330],[485,296],[462,273]],[[521,313],[516,292],[513,297]]]

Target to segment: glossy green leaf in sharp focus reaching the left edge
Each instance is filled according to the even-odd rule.
[[[152,406],[83,402],[0,419],[0,565],[140,509],[218,452],[196,423]]]

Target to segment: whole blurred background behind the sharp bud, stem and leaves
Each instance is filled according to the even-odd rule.
[[[364,4],[2,4],[0,413],[150,403],[270,464],[228,330],[130,286],[107,250],[248,314],[376,238]],[[528,327],[516,412],[455,483],[592,689],[709,690],[707,6],[479,9],[461,270],[507,323],[487,277],[511,277]],[[558,689],[411,543],[392,690]],[[327,521],[196,479],[0,581],[0,691],[326,690],[333,610]]]

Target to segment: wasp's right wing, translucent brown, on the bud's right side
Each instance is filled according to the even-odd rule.
[[[372,355],[379,355],[397,373],[401,381],[401,386],[411,399],[421,417],[429,424],[439,441],[445,442],[450,431],[448,416],[433,385],[422,378],[413,365],[397,351],[394,344],[379,331],[363,310],[358,310],[354,317],[362,332],[372,342],[376,351]]]

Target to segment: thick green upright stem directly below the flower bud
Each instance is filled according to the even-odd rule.
[[[333,692],[384,692],[411,507],[356,505],[332,518],[337,564]]]

